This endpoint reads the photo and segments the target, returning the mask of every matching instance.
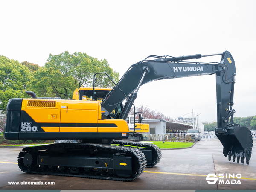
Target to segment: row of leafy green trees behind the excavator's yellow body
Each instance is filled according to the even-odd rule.
[[[43,67],[24,61],[19,63],[0,55],[0,111],[6,113],[6,106],[11,98],[29,98],[24,91],[33,91],[38,97],[72,98],[79,87],[92,87],[93,75],[105,72],[113,81],[119,80],[106,59],[98,60],[86,53],[63,52],[49,54]],[[95,78],[96,87],[113,87],[107,76],[99,74]]]

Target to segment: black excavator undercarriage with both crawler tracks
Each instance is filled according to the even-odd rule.
[[[119,146],[59,143],[26,147],[20,151],[18,165],[23,172],[32,174],[131,181],[145,167],[154,167],[162,157],[161,150],[153,144],[123,141],[112,144]]]

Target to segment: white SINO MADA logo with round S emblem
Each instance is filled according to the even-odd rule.
[[[210,185],[214,185],[218,182],[218,184],[224,184],[224,185],[241,185],[241,179],[242,175],[240,173],[238,174],[225,174],[220,173],[215,175],[215,173],[209,173],[206,177],[207,183]],[[227,179],[227,180],[224,180]]]

